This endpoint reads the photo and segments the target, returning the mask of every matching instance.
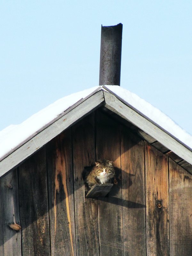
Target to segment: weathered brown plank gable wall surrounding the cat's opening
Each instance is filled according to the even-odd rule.
[[[100,158],[118,185],[85,199]],[[98,110],[0,180],[0,255],[191,256],[191,195],[191,174]]]

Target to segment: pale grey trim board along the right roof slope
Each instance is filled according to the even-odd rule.
[[[117,115],[122,116],[127,121],[136,125],[152,138],[159,141],[166,148],[172,150],[176,155],[192,164],[192,151],[186,145],[182,145],[176,140],[176,138],[173,138],[171,134],[166,133],[164,130],[150,122],[146,117],[126,106],[114,95],[104,92],[104,97],[106,101],[106,108],[114,111]]]

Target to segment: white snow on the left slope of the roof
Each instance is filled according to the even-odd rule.
[[[30,135],[37,132],[44,125],[51,122],[59,116],[63,111],[75,104],[78,100],[85,98],[99,86],[76,92],[50,104],[36,114],[26,119],[21,124],[9,125],[0,132],[0,158],[17,147],[22,141],[26,140]],[[101,87],[100,87],[101,89]]]

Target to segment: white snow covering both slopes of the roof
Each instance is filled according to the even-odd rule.
[[[184,131],[179,125],[175,124],[170,117],[166,116],[159,109],[153,107],[150,103],[141,99],[135,93],[129,92],[120,86],[106,85],[105,87],[107,87],[111,92],[114,92],[118,97],[126,101],[129,105],[139,110],[153,122],[161,126],[164,130],[171,133],[178,140],[192,148],[192,136]],[[13,148],[17,147],[21,142],[26,140],[29,136],[34,134],[43,126],[51,122],[77,101],[85,98],[90,93],[95,91],[97,88],[100,90],[103,89],[101,86],[96,86],[63,97],[48,107],[37,112],[36,114],[32,115],[21,124],[10,125],[2,130],[0,132],[0,158],[11,151]]]

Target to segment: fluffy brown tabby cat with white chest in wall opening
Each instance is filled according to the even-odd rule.
[[[116,180],[116,171],[113,166],[113,161],[106,159],[98,160],[95,165],[85,167],[82,174],[85,181],[85,192],[88,192],[95,184],[106,184]]]

